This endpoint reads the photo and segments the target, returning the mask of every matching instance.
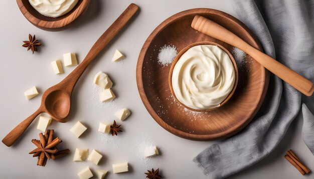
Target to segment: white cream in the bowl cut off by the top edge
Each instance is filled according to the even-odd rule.
[[[41,14],[59,17],[68,13],[78,0],[29,0],[31,5]]]

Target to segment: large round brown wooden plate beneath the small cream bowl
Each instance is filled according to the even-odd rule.
[[[269,72],[251,56],[239,60],[235,55],[238,84],[228,102],[209,112],[191,111],[181,105],[169,87],[171,66],[164,67],[158,62],[159,49],[173,44],[181,51],[191,43],[213,41],[233,50],[233,46],[193,29],[195,15],[214,20],[262,50],[258,39],[235,17],[209,8],[185,10],[157,26],[143,44],[136,66],[137,87],[147,111],[169,132],[192,140],[222,139],[240,131],[255,116],[267,91]]]

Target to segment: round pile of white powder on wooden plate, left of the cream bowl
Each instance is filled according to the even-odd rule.
[[[172,63],[177,54],[178,51],[175,45],[164,45],[159,50],[158,63],[167,66]]]

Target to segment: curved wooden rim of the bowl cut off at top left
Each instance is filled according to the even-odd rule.
[[[90,3],[90,0],[82,0],[82,2],[80,4],[76,4],[76,5],[79,5],[78,7],[75,8],[76,5],[73,7],[75,9],[74,9],[74,11],[71,12],[71,14],[77,14],[77,15],[74,16],[74,18],[70,14],[70,15],[62,18],[62,19],[53,20],[53,21],[42,20],[42,19],[39,19],[36,16],[34,16],[24,6],[23,0],[17,0],[17,3],[18,3],[18,6],[19,6],[21,12],[25,16],[25,18],[28,21],[30,21],[33,25],[35,25],[35,26],[37,26],[39,28],[43,28],[43,29],[58,29],[58,28],[62,28],[62,27],[65,27],[65,26],[69,25],[71,22],[75,21],[79,16],[81,16],[81,14],[85,10],[87,10],[87,7],[88,7],[88,5]],[[34,10],[36,10],[36,9],[34,9]],[[64,14],[64,15],[67,15],[67,13]],[[51,25],[52,23],[53,23],[53,26]]]

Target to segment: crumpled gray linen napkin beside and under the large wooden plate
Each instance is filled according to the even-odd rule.
[[[231,3],[239,19],[261,41],[265,53],[314,81],[314,0]],[[209,178],[224,178],[244,170],[278,145],[300,111],[302,139],[314,154],[313,99],[271,74],[266,98],[251,123],[235,136],[210,145],[193,161]]]

